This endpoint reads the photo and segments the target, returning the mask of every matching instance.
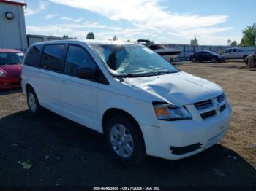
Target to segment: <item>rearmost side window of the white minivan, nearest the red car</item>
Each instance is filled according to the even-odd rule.
[[[29,66],[39,67],[41,50],[42,50],[41,44],[31,47],[29,49],[29,52],[27,52],[26,54],[24,64]]]

